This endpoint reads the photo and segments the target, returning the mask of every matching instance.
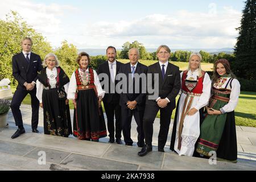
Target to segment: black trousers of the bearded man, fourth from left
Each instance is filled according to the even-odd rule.
[[[110,138],[121,138],[122,135],[122,121],[121,121],[121,106],[116,103],[103,102],[107,120],[108,120],[108,131]],[[114,126],[115,116],[115,126]]]

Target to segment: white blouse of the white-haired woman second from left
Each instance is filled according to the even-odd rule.
[[[56,67],[51,69],[46,68],[46,75],[47,78],[49,79],[49,85],[51,86],[56,86],[56,77],[57,77],[57,69]],[[53,75],[53,77],[51,78],[51,75]],[[67,84],[64,85],[64,90],[67,93],[68,92],[68,85],[69,82]],[[43,89],[45,88],[45,86],[42,84],[42,82],[40,82],[39,80],[36,80],[36,97],[38,98],[39,102],[42,103],[42,96],[43,96]]]

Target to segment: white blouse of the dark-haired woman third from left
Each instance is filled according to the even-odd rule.
[[[79,73],[80,72],[81,71],[79,69]],[[89,72],[89,69],[86,69],[86,72]],[[101,96],[103,98],[105,95],[105,91],[102,90],[100,80],[98,78],[96,71],[94,71],[94,70],[93,70],[93,75],[94,75],[94,85],[96,86],[98,97]],[[76,88],[77,88],[76,75],[75,75],[75,72],[73,72],[71,79],[70,79],[69,87],[68,87],[68,96],[67,96],[68,99],[71,99],[71,100],[75,99]]]

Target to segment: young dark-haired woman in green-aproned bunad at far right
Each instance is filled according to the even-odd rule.
[[[217,60],[212,77],[212,97],[200,127],[197,152],[204,156],[212,156],[216,152],[218,160],[237,162],[234,109],[239,95],[240,83],[233,75],[228,60]]]

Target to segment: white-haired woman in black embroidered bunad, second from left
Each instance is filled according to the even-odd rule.
[[[72,134],[67,100],[69,78],[59,67],[57,56],[48,53],[36,81],[36,97],[44,113],[44,134],[68,137]]]

